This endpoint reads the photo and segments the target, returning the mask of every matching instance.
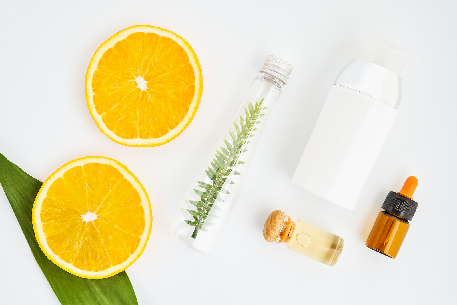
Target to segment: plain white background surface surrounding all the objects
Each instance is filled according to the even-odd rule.
[[[63,1],[62,1],[63,2]],[[143,304],[449,304],[456,284],[455,1],[2,1],[0,152],[44,181],[64,163],[102,155],[126,165],[151,198],[153,227],[128,276]],[[84,77],[96,48],[129,26],[176,32],[202,65],[203,96],[168,144],[126,147],[96,127]],[[375,35],[420,57],[354,211],[291,184],[336,75]],[[192,179],[267,55],[294,70],[266,126],[243,193],[210,256],[166,235]],[[419,208],[396,259],[365,246],[388,191],[419,178]],[[268,243],[282,209],[345,239],[335,267]],[[2,304],[59,304],[0,192]]]

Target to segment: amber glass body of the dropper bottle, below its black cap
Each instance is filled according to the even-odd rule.
[[[367,247],[395,258],[408,233],[409,223],[392,214],[381,211],[368,235]]]

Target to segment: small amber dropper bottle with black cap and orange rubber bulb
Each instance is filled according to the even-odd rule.
[[[413,193],[417,187],[417,178],[409,177],[404,182],[400,192],[390,191],[384,200],[367,239],[367,247],[395,258],[408,233],[409,222],[412,220],[419,203],[413,200]]]

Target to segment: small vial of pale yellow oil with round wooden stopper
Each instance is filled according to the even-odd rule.
[[[344,240],[302,220],[290,219],[281,210],[273,211],[263,228],[266,241],[285,242],[287,247],[304,256],[335,266],[343,251]]]

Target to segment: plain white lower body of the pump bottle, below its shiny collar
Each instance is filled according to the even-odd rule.
[[[372,96],[332,86],[292,183],[354,209],[396,115]]]

